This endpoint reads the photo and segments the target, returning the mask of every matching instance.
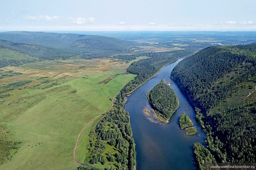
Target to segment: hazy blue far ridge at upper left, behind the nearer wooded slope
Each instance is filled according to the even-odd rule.
[[[113,52],[129,51],[137,43],[98,35],[60,34],[12,31],[0,33],[0,39],[28,45],[47,46],[62,50],[96,53],[99,57]]]

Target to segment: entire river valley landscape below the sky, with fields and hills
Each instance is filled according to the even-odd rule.
[[[0,168],[197,169],[203,159],[253,162],[255,44],[245,43],[256,36],[237,34],[0,33]],[[163,98],[156,102],[165,110],[163,121],[169,119],[164,124],[146,98],[163,79],[170,83],[166,93],[173,89],[179,99],[174,108],[159,104]],[[182,130],[183,112],[189,120]],[[242,140],[230,146],[221,134]],[[178,152],[187,156],[177,158]]]

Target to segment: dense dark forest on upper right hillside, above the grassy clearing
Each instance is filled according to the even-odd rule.
[[[253,57],[256,54],[255,46],[208,47],[177,64],[171,72],[171,78],[197,107],[207,111],[226,98],[237,84],[256,75],[256,59]],[[218,79],[245,62],[250,62],[252,66],[242,76],[211,89]]]

